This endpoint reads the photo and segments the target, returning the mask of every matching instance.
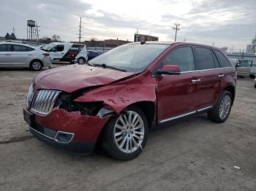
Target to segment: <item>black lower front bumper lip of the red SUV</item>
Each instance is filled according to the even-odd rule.
[[[67,143],[61,143],[58,139],[56,139],[57,132],[55,131],[55,135],[53,130],[43,128],[43,132],[51,131],[54,136],[50,136],[50,133],[46,134],[42,131],[40,132],[37,128],[29,127],[30,132],[40,141],[45,142],[46,144],[50,144],[53,147],[57,147],[59,149],[64,149],[68,152],[76,152],[83,155],[89,155],[91,152],[94,151],[94,146],[96,144],[96,141],[91,142],[78,142],[78,141],[67,141]],[[63,132],[65,133],[65,132]]]

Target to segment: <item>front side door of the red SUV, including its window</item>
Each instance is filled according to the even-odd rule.
[[[191,47],[177,47],[160,62],[158,69],[164,65],[178,65],[180,75],[162,75],[157,81],[157,116],[159,122],[173,117],[195,112],[197,97],[194,81],[195,60]]]

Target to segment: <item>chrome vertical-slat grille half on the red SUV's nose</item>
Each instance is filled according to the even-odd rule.
[[[50,113],[60,93],[56,90],[39,90],[34,98],[31,110],[39,114]]]

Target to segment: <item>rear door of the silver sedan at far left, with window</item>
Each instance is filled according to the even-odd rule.
[[[19,44],[12,44],[12,66],[29,66],[29,62],[34,58],[33,48]]]

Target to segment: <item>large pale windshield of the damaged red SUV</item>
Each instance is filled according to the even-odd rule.
[[[140,73],[144,71],[168,44],[125,44],[109,50],[89,61],[89,64],[105,64],[124,71]]]

